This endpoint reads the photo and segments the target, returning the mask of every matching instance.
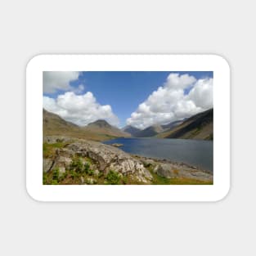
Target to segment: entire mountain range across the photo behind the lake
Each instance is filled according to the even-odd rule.
[[[43,135],[63,135],[105,141],[115,137],[159,137],[213,140],[213,109],[169,124],[155,124],[143,130],[128,125],[116,128],[99,119],[84,127],[43,110]]]

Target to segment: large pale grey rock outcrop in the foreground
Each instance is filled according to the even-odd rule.
[[[46,138],[47,140],[47,138]],[[65,141],[67,141],[64,138]],[[54,141],[54,139],[52,139]],[[114,146],[109,146],[96,141],[75,140],[70,141],[65,149],[56,152],[56,159],[52,168],[67,168],[74,155],[82,158],[88,157],[92,159],[94,169],[108,173],[110,170],[119,172],[123,175],[132,175],[138,182],[150,183],[152,176],[144,167],[139,159],[133,158],[131,155],[119,150]]]

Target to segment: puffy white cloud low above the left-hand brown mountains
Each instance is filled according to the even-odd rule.
[[[119,125],[119,119],[111,106],[101,106],[92,92],[83,95],[65,92],[56,99],[43,97],[43,108],[79,126],[85,126],[97,119],[105,119],[112,125]]]

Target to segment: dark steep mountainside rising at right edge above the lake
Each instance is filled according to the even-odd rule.
[[[213,109],[193,115],[157,137],[213,140]]]

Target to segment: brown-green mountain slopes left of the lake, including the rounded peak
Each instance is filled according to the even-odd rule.
[[[82,128],[43,109],[43,136],[47,135],[77,137],[92,141],[106,141],[115,137],[130,136],[119,128],[112,127],[104,120],[98,120]]]

